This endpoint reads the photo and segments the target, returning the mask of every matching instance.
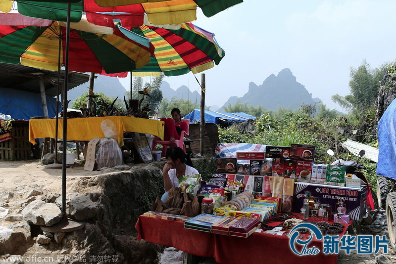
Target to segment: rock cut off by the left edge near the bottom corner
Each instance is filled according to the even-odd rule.
[[[13,254],[25,242],[26,238],[22,232],[15,232],[5,226],[0,226],[0,255]]]

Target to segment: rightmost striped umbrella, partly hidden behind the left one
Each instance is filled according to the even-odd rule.
[[[148,38],[154,46],[151,61],[140,69],[133,70],[135,76],[183,75],[190,71],[199,73],[219,64],[225,56],[217,44],[214,34],[192,23],[172,30],[153,26],[128,28]]]

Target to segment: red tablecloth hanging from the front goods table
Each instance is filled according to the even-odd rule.
[[[247,264],[297,264],[297,263],[337,263],[337,255],[324,255],[323,243],[311,241],[308,247],[315,246],[321,253],[316,256],[297,256],[289,247],[289,238],[285,235],[253,233],[247,238],[224,236],[184,228],[184,222],[162,220],[140,216],[135,228],[138,240],[144,239],[164,246],[172,246],[184,252],[211,257],[217,263]],[[344,235],[345,231],[340,234]]]

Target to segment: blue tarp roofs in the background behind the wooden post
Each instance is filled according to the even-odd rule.
[[[219,113],[219,114],[218,114]],[[225,116],[226,115],[226,116]],[[193,112],[183,117],[186,119],[190,119],[191,123],[200,122],[201,121],[201,111],[200,109],[194,109]],[[219,124],[219,119],[223,119],[228,123],[232,122],[245,122],[248,119],[255,119],[255,116],[248,115],[246,113],[221,113],[221,112],[212,112],[205,110],[205,123],[214,123]]]

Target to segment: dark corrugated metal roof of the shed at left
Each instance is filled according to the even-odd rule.
[[[60,71],[60,83],[63,83],[64,70]],[[0,86],[40,93],[40,78],[44,80],[46,94],[56,96],[58,72],[27,67],[21,64],[0,63]],[[70,90],[89,81],[84,73],[69,72],[68,88]]]

